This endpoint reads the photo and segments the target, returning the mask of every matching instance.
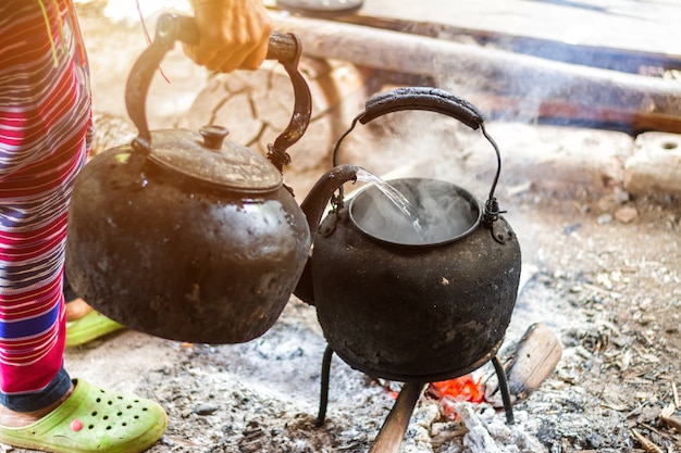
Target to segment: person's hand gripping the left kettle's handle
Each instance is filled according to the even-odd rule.
[[[187,56],[211,71],[257,70],[268,54],[272,20],[262,0],[191,0],[200,33]]]

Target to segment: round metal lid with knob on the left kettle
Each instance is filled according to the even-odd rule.
[[[222,189],[272,191],[282,186],[282,173],[262,155],[224,140],[228,130],[203,126],[151,131],[149,160],[159,166]]]

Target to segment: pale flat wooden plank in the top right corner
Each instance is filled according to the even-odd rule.
[[[368,0],[359,15],[681,54],[681,2],[673,0]]]

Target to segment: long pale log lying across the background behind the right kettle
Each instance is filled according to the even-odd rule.
[[[307,55],[436,76],[497,114],[681,133],[679,83],[331,21],[275,17],[275,26],[296,33]]]

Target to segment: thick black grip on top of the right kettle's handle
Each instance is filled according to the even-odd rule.
[[[367,100],[364,113],[359,122],[367,124],[386,113],[400,110],[426,110],[451,116],[469,126],[478,129],[484,122],[478,108],[456,95],[430,87],[397,88],[373,96]]]

